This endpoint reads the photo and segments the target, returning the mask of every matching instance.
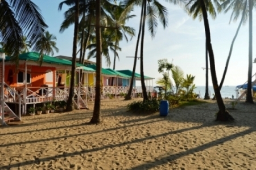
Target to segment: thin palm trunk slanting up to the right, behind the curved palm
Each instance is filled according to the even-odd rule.
[[[238,25],[238,28],[237,28],[237,32],[236,32],[236,35],[234,36],[233,40],[232,40],[232,43],[231,43],[231,46],[230,46],[230,50],[229,50],[229,56],[228,58],[226,59],[226,66],[225,66],[225,70],[224,70],[224,73],[222,75],[222,79],[221,79],[221,83],[220,83],[220,90],[221,90],[221,87],[224,83],[224,80],[225,80],[225,77],[226,77],[226,71],[228,70],[228,66],[229,66],[229,60],[230,60],[230,57],[231,57],[231,54],[232,54],[232,50],[233,50],[233,46],[234,46],[234,41],[237,39],[237,35],[238,35],[238,32],[240,30],[240,27],[243,23],[243,19],[245,18],[245,14],[246,14],[246,8],[247,8],[247,1],[245,1],[245,7],[243,8],[243,14],[242,14],[242,18],[240,20],[240,23]]]

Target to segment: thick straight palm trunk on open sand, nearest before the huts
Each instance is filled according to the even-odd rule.
[[[93,117],[90,120],[92,124],[99,124],[101,122],[101,0],[96,0],[96,94],[94,101]]]

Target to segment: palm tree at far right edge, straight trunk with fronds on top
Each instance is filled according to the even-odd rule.
[[[249,1],[247,5],[247,1]],[[233,9],[231,19],[236,20],[238,16],[240,16],[241,12],[244,17],[243,22],[246,22],[247,18],[249,18],[249,67],[248,67],[248,86],[247,86],[247,94],[246,94],[246,102],[253,103],[253,95],[251,92],[251,75],[253,70],[253,6],[255,0],[226,0],[222,6],[226,8],[225,11]],[[243,9],[243,10],[242,10]]]

